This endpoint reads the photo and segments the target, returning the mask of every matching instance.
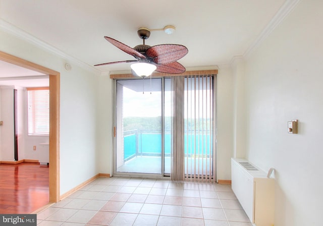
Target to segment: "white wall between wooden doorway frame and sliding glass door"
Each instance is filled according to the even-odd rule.
[[[100,173],[96,154],[97,76],[73,66],[61,74],[61,191]],[[64,177],[62,178],[62,174]],[[74,185],[74,186],[71,186]]]

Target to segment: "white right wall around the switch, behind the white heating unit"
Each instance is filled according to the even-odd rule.
[[[247,158],[276,170],[275,226],[322,225],[322,9],[301,1],[246,61]]]

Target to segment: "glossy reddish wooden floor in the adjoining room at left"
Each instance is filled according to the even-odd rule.
[[[0,164],[0,213],[31,213],[49,202],[48,166]]]

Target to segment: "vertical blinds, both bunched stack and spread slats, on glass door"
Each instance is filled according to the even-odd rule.
[[[185,178],[194,181],[216,181],[213,77],[214,75],[187,76],[183,79],[182,89],[174,87],[174,119],[177,119],[174,120],[174,124],[182,119],[184,125],[173,131],[174,147],[177,145],[173,153],[176,157],[174,165],[177,166],[171,175],[172,180]],[[179,78],[173,79],[175,86],[177,79]],[[180,110],[182,108],[183,111]],[[183,141],[178,137],[182,137]],[[175,143],[176,139],[182,146]],[[182,159],[179,159],[180,157]]]

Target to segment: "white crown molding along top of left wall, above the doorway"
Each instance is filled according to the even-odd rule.
[[[58,55],[59,57],[89,71],[89,72],[92,72],[94,74],[97,74],[99,75],[101,73],[101,71],[99,71],[98,69],[95,69],[93,68],[92,66],[72,57],[71,55],[63,52],[62,50],[56,48],[56,47],[53,47],[52,45],[44,42],[44,41],[41,41],[40,39],[36,38],[35,36],[23,31],[22,29],[10,24],[9,22],[3,20],[3,19],[0,19],[0,28],[9,33],[9,34],[12,34],[12,35],[15,35],[16,37],[24,40],[24,41],[27,41],[31,44],[34,44],[34,45],[37,45],[39,46],[40,48],[44,49],[44,50],[47,50],[55,55]]]

